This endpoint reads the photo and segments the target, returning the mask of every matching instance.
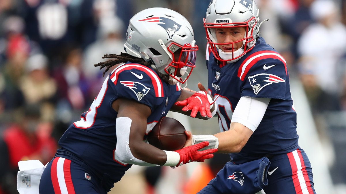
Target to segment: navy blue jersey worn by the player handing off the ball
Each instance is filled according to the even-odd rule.
[[[209,56],[208,56],[209,55]],[[208,58],[209,57],[209,58]],[[260,37],[255,47],[234,63],[207,52],[208,90],[217,98],[220,130],[229,130],[242,96],[271,98],[264,117],[242,151],[230,154],[236,163],[298,148],[297,114],[291,98],[286,61]],[[221,63],[222,64],[222,63]]]

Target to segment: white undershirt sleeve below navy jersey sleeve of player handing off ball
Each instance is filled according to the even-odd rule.
[[[244,125],[255,132],[260,125],[271,98],[243,96],[233,112],[231,122]]]

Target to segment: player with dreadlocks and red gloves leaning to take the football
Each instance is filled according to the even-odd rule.
[[[191,96],[180,87],[198,50],[189,22],[166,8],[140,11],[130,20],[124,50],[95,65],[114,69],[89,110],[59,140],[61,149],[43,172],[40,193],[107,193],[133,164],[179,166],[203,162],[217,151],[198,151],[208,142],[172,152],[144,141],[176,101]],[[188,144],[192,135],[186,135]]]

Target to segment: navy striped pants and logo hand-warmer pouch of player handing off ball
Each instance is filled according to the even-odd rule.
[[[259,179],[261,173],[265,175],[264,183]],[[198,194],[255,194],[262,188],[266,194],[316,194],[306,153],[299,148],[287,154],[274,155],[270,157],[268,169],[264,170],[263,164],[258,162],[226,163],[216,178]]]

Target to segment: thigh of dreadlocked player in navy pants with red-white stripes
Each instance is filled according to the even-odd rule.
[[[56,157],[45,168],[39,191],[40,193],[68,194],[107,193],[100,185],[99,180],[86,172],[82,166],[68,159]]]

